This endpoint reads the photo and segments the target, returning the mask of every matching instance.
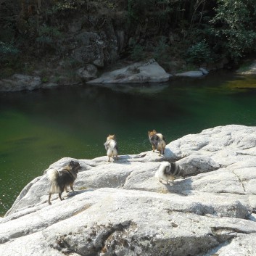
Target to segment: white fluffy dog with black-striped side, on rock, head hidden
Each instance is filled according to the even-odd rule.
[[[162,180],[168,183],[169,180],[173,182],[176,177],[184,178],[183,169],[176,162],[162,162],[154,176],[159,178],[161,183]]]

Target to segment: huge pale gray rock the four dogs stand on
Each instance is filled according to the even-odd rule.
[[[256,127],[189,134],[164,157],[107,160],[78,160],[75,191],[52,205],[49,169],[31,181],[0,219],[0,255],[256,255]],[[160,183],[162,161],[177,161],[186,178]]]

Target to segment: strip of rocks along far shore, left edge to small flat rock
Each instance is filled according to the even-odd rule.
[[[121,68],[114,70],[117,65],[109,67],[112,71],[101,73],[94,65],[85,65],[77,70],[73,70],[73,76],[68,77],[66,67],[59,67],[56,70],[59,74],[56,77],[56,70],[44,69],[42,71],[34,71],[36,75],[15,74],[8,79],[0,80],[1,91],[33,91],[38,88],[53,88],[57,86],[72,86],[84,83],[108,83],[108,84],[125,84],[125,83],[162,83],[168,82],[171,78],[191,77],[199,78],[209,73],[205,68],[200,67],[197,71],[189,71],[183,73],[170,74],[155,61],[155,59],[147,59],[144,62],[129,63],[120,62]],[[55,75],[54,75],[55,74]]]

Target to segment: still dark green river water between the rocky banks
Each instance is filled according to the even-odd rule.
[[[256,76],[232,73],[136,88],[0,93],[0,215],[51,163],[105,155],[110,133],[120,154],[138,154],[151,149],[150,129],[170,142],[217,125],[255,126],[255,110]]]

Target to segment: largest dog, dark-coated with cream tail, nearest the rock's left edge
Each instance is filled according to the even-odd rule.
[[[49,191],[49,199],[48,203],[51,205],[51,194],[59,194],[59,199],[64,200],[62,198],[62,192],[64,189],[67,191],[67,186],[70,186],[70,189],[73,189],[73,183],[77,178],[78,170],[80,170],[79,162],[70,161],[69,165],[67,165],[62,170],[54,170],[51,169],[48,171],[48,178],[51,182],[51,187]]]

